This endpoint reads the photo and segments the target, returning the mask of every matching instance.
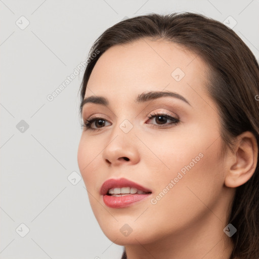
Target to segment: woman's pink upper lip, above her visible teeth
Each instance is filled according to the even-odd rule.
[[[100,193],[101,195],[106,195],[110,189],[122,188],[122,187],[133,187],[143,192],[151,192],[151,190],[146,187],[143,187],[125,178],[120,178],[120,179],[109,179],[105,181],[100,189]]]

